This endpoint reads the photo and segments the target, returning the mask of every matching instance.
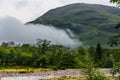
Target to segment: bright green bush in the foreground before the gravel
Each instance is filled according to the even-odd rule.
[[[88,56],[89,57],[89,56]],[[83,74],[87,80],[107,80],[104,74],[100,73],[94,65],[92,59],[87,58],[87,62],[84,63]]]

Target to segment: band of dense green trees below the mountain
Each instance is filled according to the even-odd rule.
[[[113,67],[113,62],[120,62],[120,49],[103,49],[100,43],[88,49],[69,49],[41,39],[37,40],[36,45],[4,42],[0,46],[1,66],[84,68],[89,61],[92,61],[95,67]]]

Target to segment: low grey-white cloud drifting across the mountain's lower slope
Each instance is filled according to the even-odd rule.
[[[74,34],[69,31],[72,36]],[[0,18],[0,41],[35,44],[36,39],[47,39],[52,44],[77,47],[82,43],[72,39],[64,30],[45,25],[24,25],[13,17]]]

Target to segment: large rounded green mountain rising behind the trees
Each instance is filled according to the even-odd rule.
[[[70,29],[84,45],[107,45],[110,36],[119,32],[120,9],[98,4],[76,3],[52,9],[29,24],[53,25]]]

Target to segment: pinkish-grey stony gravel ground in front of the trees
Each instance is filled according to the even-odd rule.
[[[106,76],[111,76],[109,69],[100,69],[100,72],[104,73]],[[1,72],[1,80],[43,80],[59,77],[83,77],[78,69],[69,70],[58,70],[58,71],[42,71],[34,73],[10,73]]]

